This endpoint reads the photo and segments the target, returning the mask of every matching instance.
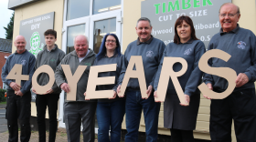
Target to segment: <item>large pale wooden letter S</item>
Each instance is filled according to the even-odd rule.
[[[202,83],[200,86],[198,86],[199,90],[202,92],[204,96],[208,96],[213,99],[223,99],[227,96],[229,96],[234,88],[236,87],[236,78],[237,73],[229,68],[229,67],[211,67],[208,66],[208,59],[211,57],[218,57],[225,62],[229,61],[229,58],[231,57],[228,53],[219,50],[219,49],[212,49],[206,52],[199,60],[199,69],[207,74],[220,76],[228,80],[229,86],[226,89],[226,91],[222,93],[216,93],[210,89],[208,89],[208,86],[206,86],[205,83]]]

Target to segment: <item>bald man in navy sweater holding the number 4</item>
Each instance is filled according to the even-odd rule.
[[[17,35],[14,42],[16,52],[9,56],[2,68],[2,80],[7,86],[7,106],[6,115],[7,127],[9,132],[9,142],[18,141],[18,125],[20,124],[20,141],[28,142],[31,115],[31,79],[35,72],[36,58],[26,50],[26,39],[22,35]],[[22,65],[22,75],[28,75],[29,80],[22,80],[21,86],[18,86],[13,79],[6,79],[12,68],[16,65]]]

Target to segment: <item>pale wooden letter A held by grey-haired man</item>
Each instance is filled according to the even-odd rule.
[[[136,70],[133,70],[133,66],[136,66]],[[153,77],[153,76],[152,76]],[[144,64],[142,56],[131,56],[129,65],[127,66],[126,73],[123,77],[123,84],[121,86],[121,91],[119,92],[120,96],[123,96],[126,86],[130,78],[138,78],[142,97],[147,98],[146,94],[146,83],[144,77]]]

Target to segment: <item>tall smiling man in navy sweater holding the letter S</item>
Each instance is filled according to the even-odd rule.
[[[212,142],[231,142],[232,119],[238,142],[255,141],[256,38],[250,30],[237,24],[239,20],[240,8],[237,5],[222,5],[219,9],[221,29],[208,46],[209,50],[220,49],[231,56],[228,62],[212,58],[208,61],[209,66],[230,67],[238,75],[236,88],[228,97],[211,100],[209,129]],[[208,74],[204,76],[204,82],[215,92],[223,92],[228,86],[226,79]]]

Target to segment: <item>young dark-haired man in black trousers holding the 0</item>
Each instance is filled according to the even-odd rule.
[[[57,32],[53,29],[48,29],[45,33],[45,42],[46,46],[44,49],[37,54],[37,61],[35,69],[43,65],[50,66],[54,71],[59,65],[62,58],[65,56],[65,53],[58,48],[55,44],[57,40]],[[42,73],[37,76],[37,83],[40,86],[45,86],[48,84],[49,77],[48,74]],[[33,88],[32,91],[37,94],[37,91]],[[46,94],[38,95],[36,98],[37,105],[37,125],[39,133],[39,142],[46,141],[46,109],[48,107],[48,117],[49,117],[49,135],[48,141],[54,142],[56,137],[56,131],[58,127],[57,122],[57,110],[58,110],[58,101],[59,94],[61,89],[57,86],[56,83],[51,88],[48,88]]]

